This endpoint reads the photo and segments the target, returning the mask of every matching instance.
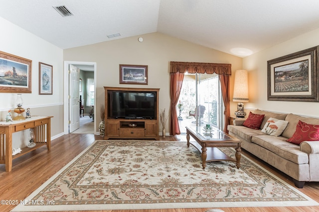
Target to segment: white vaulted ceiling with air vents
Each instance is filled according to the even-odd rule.
[[[318,9],[319,0],[2,0],[0,16],[62,49],[160,32],[244,57],[319,28]]]

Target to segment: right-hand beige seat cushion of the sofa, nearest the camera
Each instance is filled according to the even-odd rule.
[[[260,135],[253,136],[251,141],[278,154],[279,156],[293,161],[297,164],[308,163],[309,158],[306,152],[300,151],[299,145],[289,143],[287,138],[279,136]]]

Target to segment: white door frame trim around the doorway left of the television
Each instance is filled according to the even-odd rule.
[[[69,134],[69,65],[90,65],[94,67],[94,105],[96,105],[96,63],[95,62],[79,62],[79,61],[64,61],[64,135]],[[96,113],[94,113],[94,134],[96,132]]]

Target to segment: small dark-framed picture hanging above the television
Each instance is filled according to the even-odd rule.
[[[148,84],[148,66],[120,64],[120,84]]]

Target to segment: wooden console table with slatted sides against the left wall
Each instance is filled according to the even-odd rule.
[[[0,122],[0,164],[5,164],[6,172],[12,170],[12,159],[22,156],[45,144],[47,149],[50,150],[52,117],[53,116],[32,116],[23,121]],[[12,134],[30,128],[34,129],[36,145],[32,148],[24,147],[20,153],[12,156]]]

